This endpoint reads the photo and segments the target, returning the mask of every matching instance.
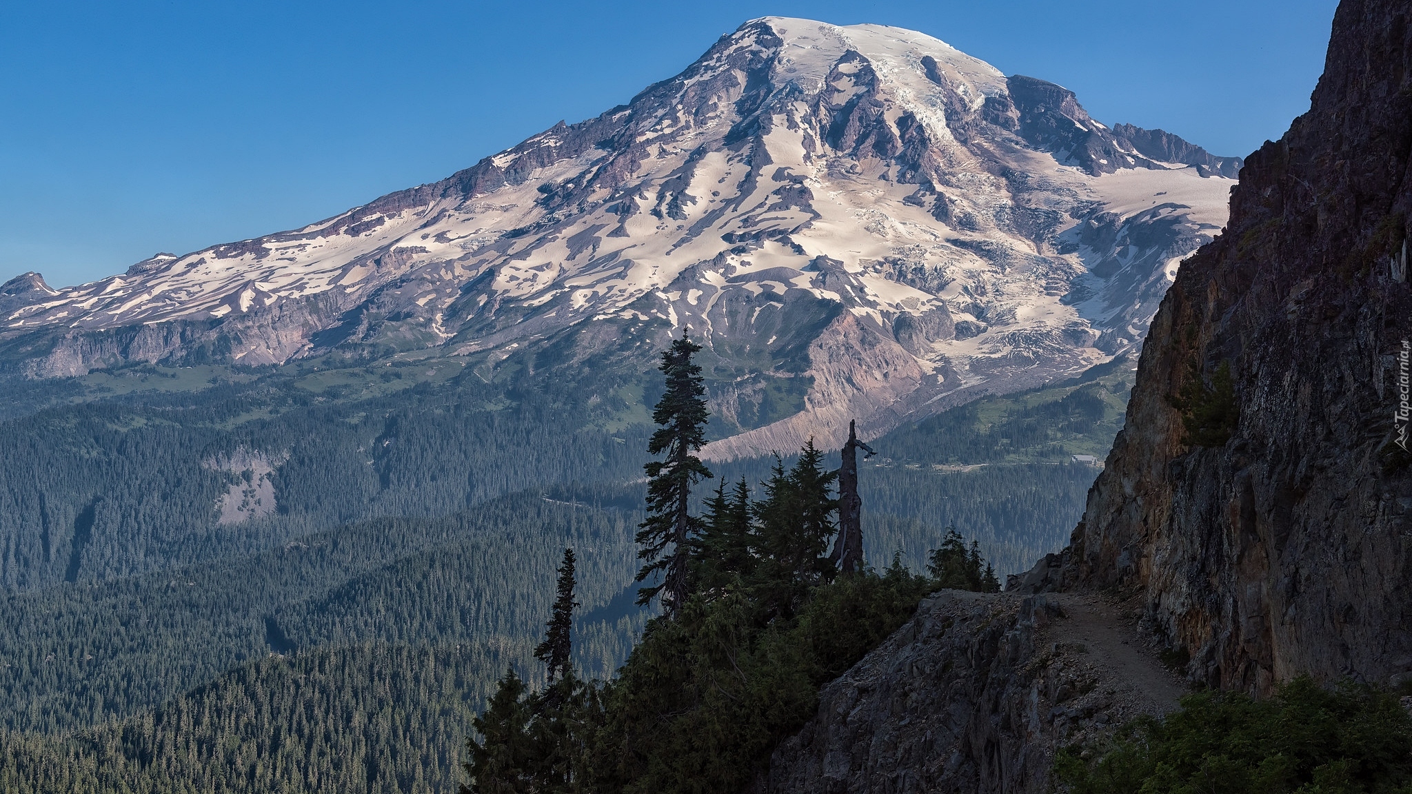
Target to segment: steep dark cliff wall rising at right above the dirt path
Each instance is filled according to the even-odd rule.
[[[1412,675],[1409,16],[1339,7],[1309,113],[1162,301],[1072,545],[1014,582],[1141,593],[1210,685]],[[1173,404],[1200,424],[1223,366],[1238,420],[1202,438]]]

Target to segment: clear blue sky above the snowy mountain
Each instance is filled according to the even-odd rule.
[[[1216,154],[1309,107],[1333,0],[0,1],[0,281],[335,215],[628,100],[761,16],[928,32]]]

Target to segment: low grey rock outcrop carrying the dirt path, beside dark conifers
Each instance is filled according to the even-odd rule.
[[[1176,705],[1138,615],[1094,595],[942,591],[820,692],[754,790],[1046,793],[1055,747]]]

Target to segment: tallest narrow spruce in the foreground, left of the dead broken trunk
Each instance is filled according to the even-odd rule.
[[[642,466],[647,470],[648,517],[637,533],[638,558],[644,559],[637,574],[641,582],[661,572],[661,582],[637,592],[637,603],[645,605],[661,595],[668,616],[686,603],[690,593],[690,540],[700,530],[700,519],[690,514],[692,486],[710,478],[710,469],[693,455],[706,445],[706,387],[702,367],[692,363],[700,345],[683,331],[671,348],[662,352],[658,367],[666,376],[666,391],[652,411],[652,421],[661,425],[647,445],[650,455],[665,455]]]

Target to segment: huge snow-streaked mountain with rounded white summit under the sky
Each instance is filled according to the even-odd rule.
[[[689,325],[754,362],[713,383],[727,418],[802,384],[801,413],[712,452],[788,449],[1134,346],[1238,168],[919,32],[770,17],[441,182],[92,284],[21,275],[0,343],[44,376]]]

